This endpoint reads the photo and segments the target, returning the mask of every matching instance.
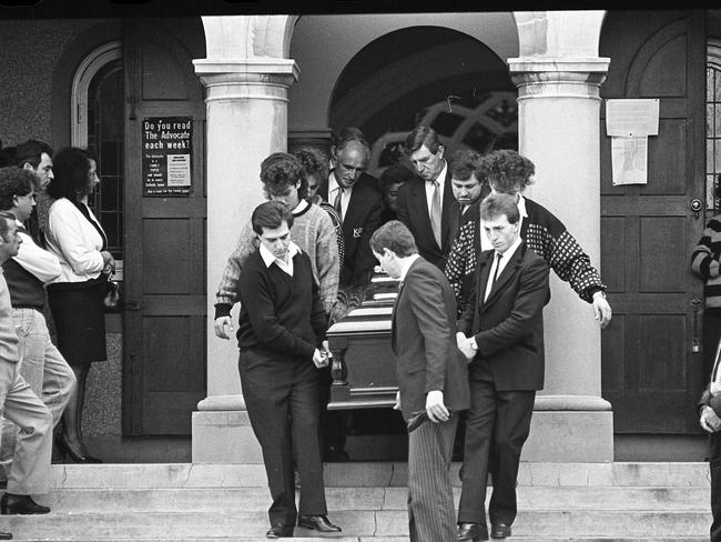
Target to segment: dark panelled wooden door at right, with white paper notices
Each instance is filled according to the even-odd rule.
[[[609,12],[600,56],[610,57],[602,98],[659,98],[649,138],[648,184],[613,187],[601,127],[601,275],[613,320],[602,333],[602,394],[617,433],[698,432],[704,384],[693,353],[701,282],[691,251],[703,214],[705,37],[702,12]]]

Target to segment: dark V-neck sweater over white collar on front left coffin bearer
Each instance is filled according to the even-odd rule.
[[[256,250],[244,262],[238,293],[240,348],[313,358],[325,339],[326,318],[307,254],[295,254],[291,277],[275,263],[267,267]]]

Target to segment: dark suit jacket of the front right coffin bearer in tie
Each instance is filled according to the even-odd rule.
[[[458,322],[478,352],[469,371],[499,391],[544,388],[544,307],[550,300],[546,260],[521,242],[483,300],[495,251],[480,253],[476,285]]]

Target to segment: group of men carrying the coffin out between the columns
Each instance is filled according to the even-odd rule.
[[[217,288],[215,333],[235,331],[263,450],[266,536],[292,536],[296,526],[342,531],[327,516],[323,484],[324,460],[348,460],[343,414],[327,410],[326,332],[363,301],[377,264],[399,281],[392,342],[396,409],[408,429],[410,540],[509,536],[520,452],[544,385],[549,270],[592,307],[601,329],[611,319],[606,285],[562,222],[522,194],[535,167],[518,152],[449,152],[419,126],[379,179],[366,171],[369,158],[357,128],[344,129],[329,155],[312,148],[268,155],[260,172],[268,201],[241,227]],[[455,516],[457,433],[465,443]]]

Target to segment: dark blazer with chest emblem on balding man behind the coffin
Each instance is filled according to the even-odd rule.
[[[368,180],[368,178],[370,180]],[[370,250],[370,235],[380,227],[383,213],[383,197],[375,190],[374,177],[362,173],[351,192],[348,209],[343,217],[343,243],[345,252],[341,268],[341,284],[356,284],[362,282],[368,271],[376,264],[376,259]],[[318,188],[321,197],[328,201],[328,184]],[[331,202],[333,204],[333,202]]]

